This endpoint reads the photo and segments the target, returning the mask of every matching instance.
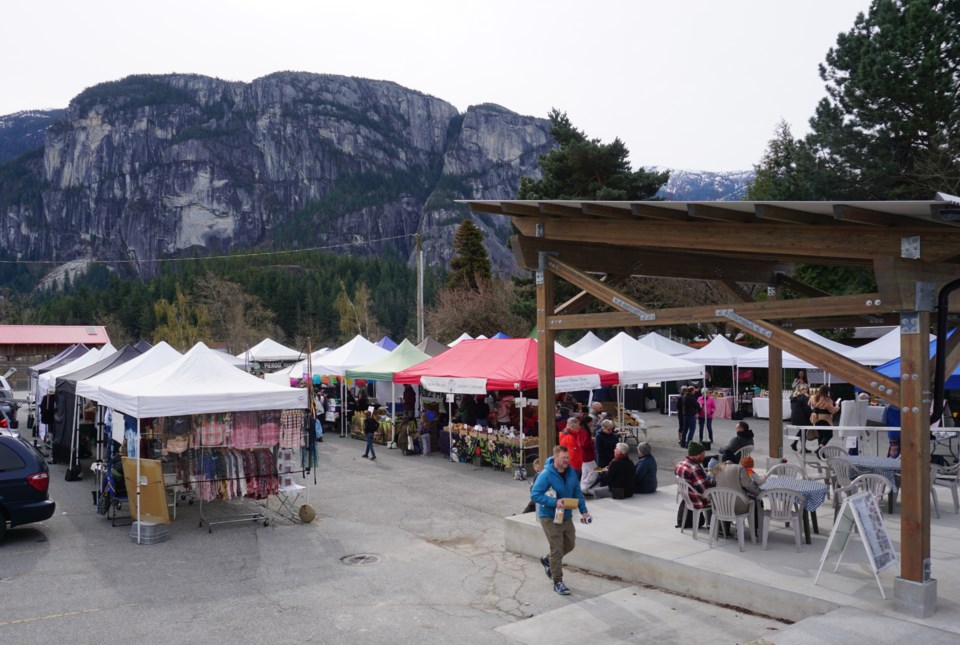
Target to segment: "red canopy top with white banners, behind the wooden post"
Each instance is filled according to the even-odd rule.
[[[556,389],[573,392],[616,385],[616,372],[557,354]],[[479,394],[537,387],[537,341],[532,338],[465,340],[448,351],[394,374],[395,383],[434,392]]]

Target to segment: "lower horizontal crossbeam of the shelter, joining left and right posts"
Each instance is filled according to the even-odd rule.
[[[549,325],[551,329],[561,330],[724,322],[726,318],[718,314],[717,311],[730,308],[735,309],[736,313],[741,316],[764,320],[862,315],[868,309],[866,302],[873,301],[876,297],[876,294],[863,294],[809,300],[766,300],[748,304],[677,307],[648,311],[648,313],[656,315],[656,319],[653,321],[643,321],[633,314],[622,312],[577,314],[574,316],[554,316],[550,319]],[[882,313],[886,313],[886,311]]]

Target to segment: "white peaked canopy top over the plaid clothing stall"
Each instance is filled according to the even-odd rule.
[[[203,343],[146,376],[100,388],[101,405],[142,419],[307,407],[307,391],[267,383],[228,365]]]

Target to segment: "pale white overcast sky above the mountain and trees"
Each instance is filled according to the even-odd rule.
[[[638,165],[749,169],[781,118],[824,95],[817,65],[869,0],[15,0],[0,114],[64,107],[128,74],[386,79],[458,109],[566,111]]]

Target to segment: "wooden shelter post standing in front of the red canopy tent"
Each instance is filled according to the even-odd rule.
[[[556,371],[554,370],[553,341],[556,332],[547,328],[547,319],[553,313],[554,276],[546,268],[541,253],[537,271],[537,417],[539,424],[540,463],[553,455],[557,444]]]

